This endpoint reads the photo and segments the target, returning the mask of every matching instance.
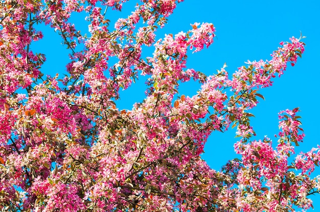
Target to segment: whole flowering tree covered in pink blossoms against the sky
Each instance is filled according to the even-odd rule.
[[[209,46],[211,23],[155,40],[182,0],[142,0],[109,27],[106,8],[125,0],[6,0],[0,3],[0,205],[6,211],[294,211],[312,207],[310,178],[320,160],[313,148],[295,158],[304,134],[296,113],[279,113],[277,142],[256,141],[248,109],[304,51],[300,39],[281,42],[269,61],[248,62],[229,76],[186,68],[187,52]],[[69,22],[87,13],[89,37]],[[43,78],[36,23],[61,35],[70,49],[68,75]],[[83,46],[76,50],[77,45]],[[154,46],[142,58],[144,46]],[[110,60],[112,58],[112,60]],[[116,61],[111,64],[110,61]],[[119,111],[113,100],[138,75],[146,98]],[[180,83],[198,81],[194,96]],[[209,111],[211,112],[209,114]],[[221,171],[200,154],[214,131],[237,127],[235,151]]]

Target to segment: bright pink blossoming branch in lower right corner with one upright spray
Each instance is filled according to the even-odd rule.
[[[237,202],[242,202],[246,208],[252,208],[250,198],[257,195],[261,208],[269,210],[282,211],[289,208],[294,211],[294,205],[304,209],[313,207],[307,196],[318,191],[317,179],[310,178],[317,165],[318,149],[298,154],[295,162],[288,165],[290,155],[294,154],[292,143],[298,146],[304,137],[298,120],[301,117],[296,116],[298,111],[295,108],[279,113],[279,128],[282,131],[276,149],[273,149],[272,141],[267,137],[263,141],[249,144],[239,141],[235,144],[236,152],[242,155],[241,163],[244,166],[237,175],[237,183],[242,190]],[[292,169],[295,171],[290,171]]]

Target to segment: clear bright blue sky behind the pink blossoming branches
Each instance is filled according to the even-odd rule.
[[[133,2],[124,3],[123,13],[126,17],[135,5]],[[115,20],[114,11],[108,10],[107,16]],[[84,16],[73,16],[76,26],[83,32],[87,26],[81,21]],[[251,112],[252,125],[257,133],[257,139],[265,135],[274,138],[278,134],[278,113],[281,110],[300,107],[302,124],[306,134],[304,143],[296,147],[296,152],[309,151],[320,144],[318,133],[318,79],[320,71],[320,2],[314,1],[212,1],[186,0],[178,4],[174,14],[169,17],[168,24],[157,33],[157,39],[165,34],[177,34],[180,31],[191,29],[190,23],[211,22],[216,27],[214,43],[188,57],[188,68],[202,71],[207,75],[215,73],[224,63],[226,70],[233,73],[237,67],[245,65],[247,60],[268,60],[273,50],[276,50],[281,41],[289,41],[291,36],[306,36],[306,50],[299,58],[298,63],[290,65],[281,78],[275,78],[270,88],[260,91],[265,101],[261,101]],[[80,22],[81,21],[81,22]],[[61,39],[53,34],[53,29],[44,30],[44,38],[38,41],[33,49],[47,56],[47,62],[42,71],[54,75],[56,72],[65,73],[65,64],[68,61],[68,51],[60,46]],[[45,45],[45,48],[43,46]],[[148,51],[147,51],[148,52]],[[121,109],[131,109],[132,104],[141,101],[144,96],[144,83],[134,84],[130,89],[121,93],[118,106]],[[194,95],[199,89],[197,83],[182,84],[179,94]],[[134,93],[134,95],[132,95]],[[226,133],[214,133],[205,145],[202,155],[205,161],[214,168],[220,169],[228,160],[237,157],[233,144],[235,130]],[[276,142],[276,139],[273,139]],[[315,175],[320,174],[320,168]],[[313,200],[320,200],[320,195]],[[315,208],[320,204],[314,203]]]

